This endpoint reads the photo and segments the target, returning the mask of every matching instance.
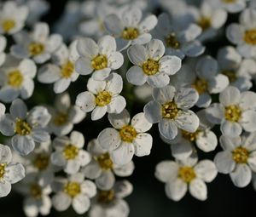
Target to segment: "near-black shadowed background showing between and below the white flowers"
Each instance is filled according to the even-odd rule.
[[[172,0],[171,0],[172,1]],[[55,20],[60,16],[66,0],[49,0],[51,8],[49,14],[46,14],[43,18],[51,26]],[[231,18],[233,19],[233,18]],[[221,44],[226,43],[225,40],[220,41]],[[215,43],[209,43],[209,47],[214,50]],[[218,47],[219,47],[218,43]],[[214,51],[213,51],[214,53]],[[72,93],[73,101],[75,96],[84,91],[84,78],[79,79],[78,83],[71,85],[68,89]],[[43,85],[45,88],[45,85]],[[49,85],[48,85],[49,86]],[[76,86],[76,87],[74,87]],[[38,84],[38,88],[41,85]],[[52,91],[52,87],[49,87]],[[44,96],[39,96],[34,93],[33,98],[44,102],[51,102],[52,95],[48,98]],[[39,99],[40,98],[40,99]],[[35,102],[29,100],[28,103],[34,104]],[[129,111],[131,114],[136,114],[137,112],[143,111],[143,104],[135,104],[132,101],[128,101]],[[84,133],[85,139],[89,141],[99,134],[103,128],[108,127],[108,119],[104,117],[101,121],[91,123],[90,117],[76,126],[78,129]],[[253,190],[253,186],[249,185],[245,188],[236,188],[230,180],[229,175],[218,174],[217,178],[212,181],[212,183],[207,184],[208,187],[208,199],[206,202],[200,202],[195,198],[191,197],[189,193],[180,202],[173,202],[166,197],[164,191],[164,184],[154,178],[154,168],[157,163],[162,160],[171,159],[170,146],[164,144],[158,135],[158,129],[155,125],[154,128],[150,130],[150,133],[154,137],[154,145],[150,156],[148,157],[134,157],[134,162],[136,164],[136,169],[134,174],[128,178],[134,186],[134,191],[130,197],[127,197],[127,202],[130,204],[131,217],[216,217],[216,216],[247,216],[252,214],[255,216],[255,206],[256,206],[256,191]],[[214,153],[204,154],[199,151],[199,156],[201,159],[208,158],[213,159]],[[20,195],[12,192],[9,197],[0,198],[0,217],[22,217],[24,216],[22,212],[22,197]],[[75,214],[70,208],[67,212],[57,213],[52,209],[51,217],[58,216],[79,216]],[[83,216],[86,216],[84,214]],[[102,216],[103,217],[103,216]]]

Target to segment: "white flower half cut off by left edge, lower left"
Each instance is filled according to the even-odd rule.
[[[25,177],[25,168],[20,163],[11,163],[12,152],[9,146],[0,144],[0,197],[6,197],[11,191],[11,184]]]

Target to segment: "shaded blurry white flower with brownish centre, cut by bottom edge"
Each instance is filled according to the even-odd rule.
[[[131,194],[133,187],[127,180],[117,181],[113,189],[109,191],[98,191],[93,199],[90,217],[128,217],[129,205],[123,199]]]

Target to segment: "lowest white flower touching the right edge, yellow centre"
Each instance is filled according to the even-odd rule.
[[[256,172],[256,134],[222,135],[219,140],[224,151],[218,152],[214,158],[218,172],[230,174],[237,187],[247,186],[252,180],[252,171]]]

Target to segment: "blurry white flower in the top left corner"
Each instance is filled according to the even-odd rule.
[[[3,3],[0,10],[0,34],[12,35],[20,31],[28,15],[26,5],[19,6],[15,1]]]

